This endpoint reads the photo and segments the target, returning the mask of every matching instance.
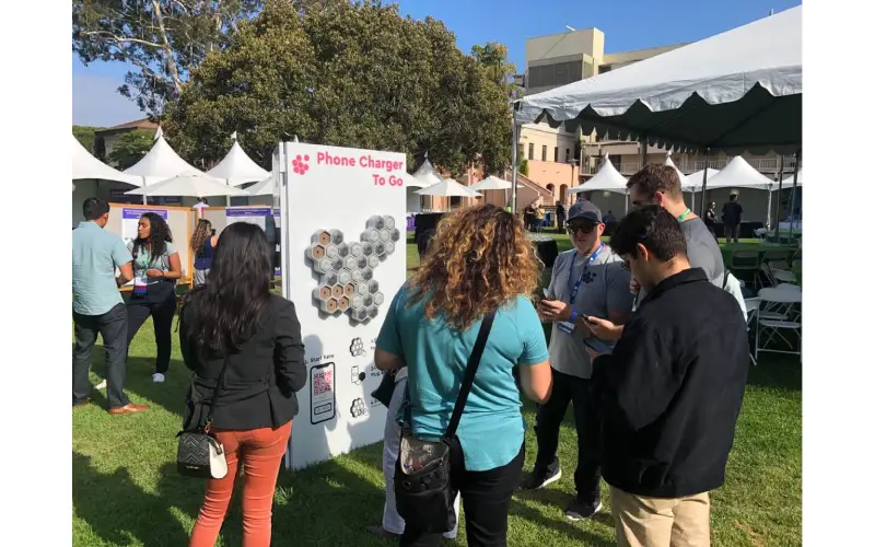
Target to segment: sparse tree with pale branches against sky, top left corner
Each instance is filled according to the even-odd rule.
[[[73,0],[73,51],[132,65],[119,92],[160,115],[203,58],[224,48],[264,0]]]

